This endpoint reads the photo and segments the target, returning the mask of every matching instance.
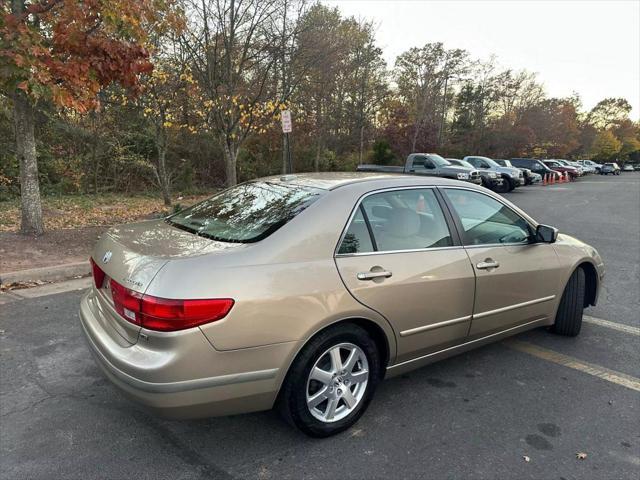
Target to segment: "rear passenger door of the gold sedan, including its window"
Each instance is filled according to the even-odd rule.
[[[473,269],[438,198],[434,188],[365,196],[335,257],[354,298],[393,326],[398,361],[461,341],[471,323]]]

